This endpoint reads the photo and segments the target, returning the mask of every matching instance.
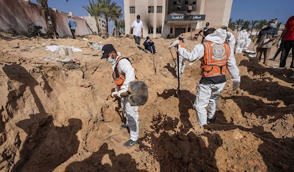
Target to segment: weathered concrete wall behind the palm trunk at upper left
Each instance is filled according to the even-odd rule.
[[[65,13],[49,10],[53,26],[60,36],[69,36],[69,28]],[[84,19],[72,17],[77,22],[75,35],[92,34]],[[0,0],[0,31],[13,34],[28,34],[29,24],[42,26],[42,33],[47,28],[42,7],[25,0]]]

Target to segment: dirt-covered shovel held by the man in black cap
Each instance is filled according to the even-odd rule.
[[[130,82],[128,92],[121,96],[128,97],[132,107],[143,106],[148,100],[148,87],[143,81]]]

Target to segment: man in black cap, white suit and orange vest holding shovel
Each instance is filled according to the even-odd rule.
[[[123,57],[120,52],[117,52],[112,44],[106,44],[102,48],[101,59],[106,58],[111,63],[113,70],[113,79],[117,87],[112,92],[111,96],[117,95],[121,98],[121,108],[123,117],[126,118],[126,125],[122,128],[129,128],[130,140],[125,142],[123,146],[132,147],[138,143],[139,138],[139,107],[131,107],[128,97],[122,97],[121,94],[128,91],[130,82],[138,81],[135,76],[134,68],[128,58]]]

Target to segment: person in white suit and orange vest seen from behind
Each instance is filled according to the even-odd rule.
[[[226,84],[226,68],[232,75],[233,89],[240,86],[239,68],[236,65],[234,53],[231,53],[232,49],[224,43],[225,39],[225,30],[210,28],[206,31],[204,43],[196,45],[193,51],[188,52],[186,48],[178,45],[177,51],[181,58],[189,62],[201,61],[202,78],[198,84],[194,103],[200,126],[213,123],[221,90]]]

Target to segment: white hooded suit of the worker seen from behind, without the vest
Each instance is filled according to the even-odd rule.
[[[204,39],[204,42],[214,42],[220,44],[224,43],[225,39],[226,31],[223,29],[217,29],[214,33],[207,35]],[[181,58],[185,58],[189,62],[197,61],[204,56],[204,45],[202,43],[196,45],[194,50],[191,52],[188,52],[186,48],[179,46],[178,52]],[[232,75],[231,80],[234,82],[233,88],[236,89],[240,86],[241,78],[239,76],[239,68],[236,65],[234,53],[230,53],[230,57],[226,66],[229,73]],[[208,118],[214,118],[218,101],[221,97],[221,90],[225,84],[225,82],[220,84],[198,84],[194,108],[197,111],[197,119],[200,126],[207,124],[207,111],[205,108],[208,105]]]

